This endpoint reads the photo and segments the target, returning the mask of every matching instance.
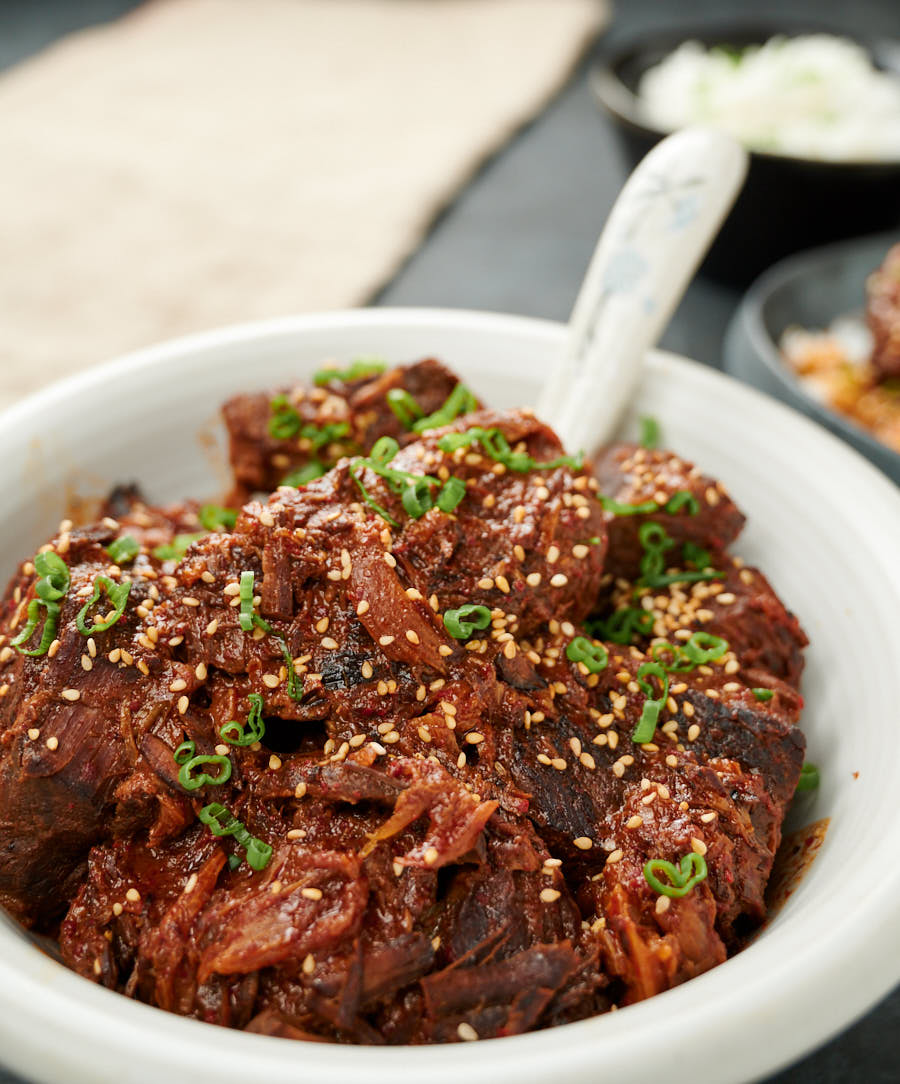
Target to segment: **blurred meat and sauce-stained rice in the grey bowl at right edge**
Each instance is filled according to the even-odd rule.
[[[827,331],[788,327],[781,350],[811,395],[900,452],[900,245],[865,292],[865,323],[844,314]]]

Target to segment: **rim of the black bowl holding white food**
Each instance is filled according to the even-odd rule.
[[[596,60],[592,64],[590,72],[590,86],[594,99],[597,104],[625,128],[640,133],[647,139],[664,139],[677,129],[663,128],[647,120],[638,95],[619,75],[620,66],[630,60],[640,57],[642,53],[645,53],[651,48],[651,42],[653,41],[658,41],[660,48],[665,50],[666,55],[669,55],[684,41],[699,41],[703,46],[709,48],[715,46],[717,41],[721,41],[722,37],[728,34],[750,39],[748,44],[754,43],[753,39],[756,38],[762,42],[779,35],[797,37],[801,34],[830,34],[834,37],[846,38],[854,44],[861,46],[869,53],[870,60],[873,62],[876,59],[875,50],[880,42],[896,41],[896,49],[900,50],[900,39],[875,35],[851,35],[846,29],[815,21],[814,18],[796,18],[793,21],[786,18],[776,21],[767,20],[764,16],[760,16],[758,20],[754,20],[750,16],[737,18],[720,16],[705,23],[666,23],[663,26],[647,27],[643,30],[633,31],[615,41],[615,43],[600,46]],[[798,168],[821,169],[825,173],[853,170],[857,172],[866,171],[890,176],[900,171],[900,155],[896,158],[813,158],[780,151],[757,150],[743,143],[743,141],[742,145],[751,159],[758,158],[761,162],[770,163],[789,163]]]

